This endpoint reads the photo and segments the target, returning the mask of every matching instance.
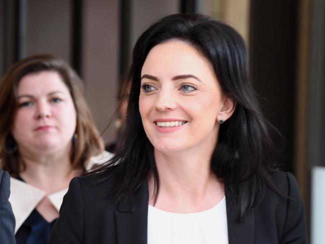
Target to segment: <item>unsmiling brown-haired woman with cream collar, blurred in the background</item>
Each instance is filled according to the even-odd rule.
[[[0,161],[12,176],[17,243],[47,243],[70,180],[109,156],[82,81],[52,55],[23,59],[1,81],[0,117]]]

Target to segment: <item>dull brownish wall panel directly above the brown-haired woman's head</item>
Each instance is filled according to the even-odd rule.
[[[71,13],[71,1],[28,1],[26,56],[53,53],[71,62]]]

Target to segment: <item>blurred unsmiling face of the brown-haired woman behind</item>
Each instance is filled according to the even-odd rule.
[[[20,153],[70,149],[77,113],[67,86],[55,71],[24,76],[17,89],[18,110],[12,134]]]

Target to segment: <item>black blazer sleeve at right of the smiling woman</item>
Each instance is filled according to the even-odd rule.
[[[288,196],[293,199],[287,201],[285,226],[281,238],[281,244],[306,244],[306,226],[304,220],[304,208],[299,194],[298,185],[291,173],[286,173],[288,180]]]

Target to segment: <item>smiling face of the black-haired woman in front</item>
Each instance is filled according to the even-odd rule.
[[[139,108],[155,150],[213,150],[224,101],[212,65],[189,44],[168,41],[149,52],[141,71]]]

